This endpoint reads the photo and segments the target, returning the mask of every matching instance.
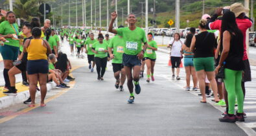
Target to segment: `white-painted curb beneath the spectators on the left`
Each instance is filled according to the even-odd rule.
[[[51,90],[53,86],[56,85],[52,82],[47,83],[47,91]],[[36,96],[40,96],[40,91],[36,91]],[[7,108],[9,106],[13,106],[14,104],[18,104],[24,102],[29,98],[29,90],[22,91],[17,93],[16,96],[3,96],[0,98],[0,109]]]

